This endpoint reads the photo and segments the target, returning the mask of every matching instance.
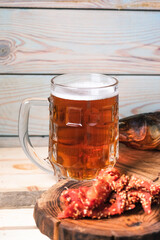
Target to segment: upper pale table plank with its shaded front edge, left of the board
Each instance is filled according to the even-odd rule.
[[[46,157],[47,148],[37,148]],[[34,206],[41,193],[54,185],[54,176],[37,168],[21,148],[0,148],[0,208]]]

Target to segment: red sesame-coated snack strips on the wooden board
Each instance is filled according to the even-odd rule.
[[[106,218],[134,209],[140,202],[147,214],[160,201],[160,184],[121,175],[116,168],[102,169],[91,187],[67,189],[60,201],[65,208],[58,218]]]

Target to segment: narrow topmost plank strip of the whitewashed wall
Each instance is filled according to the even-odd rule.
[[[0,0],[0,7],[160,9],[159,0]]]

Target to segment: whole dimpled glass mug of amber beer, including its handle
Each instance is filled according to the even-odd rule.
[[[49,104],[49,165],[28,137],[32,105]],[[118,158],[118,81],[103,74],[64,74],[51,80],[48,100],[26,99],[20,109],[19,138],[27,156],[58,178],[94,179]]]

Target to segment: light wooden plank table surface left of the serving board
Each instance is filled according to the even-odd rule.
[[[55,179],[38,169],[21,148],[0,148],[0,239],[47,240],[35,225],[33,208]]]

